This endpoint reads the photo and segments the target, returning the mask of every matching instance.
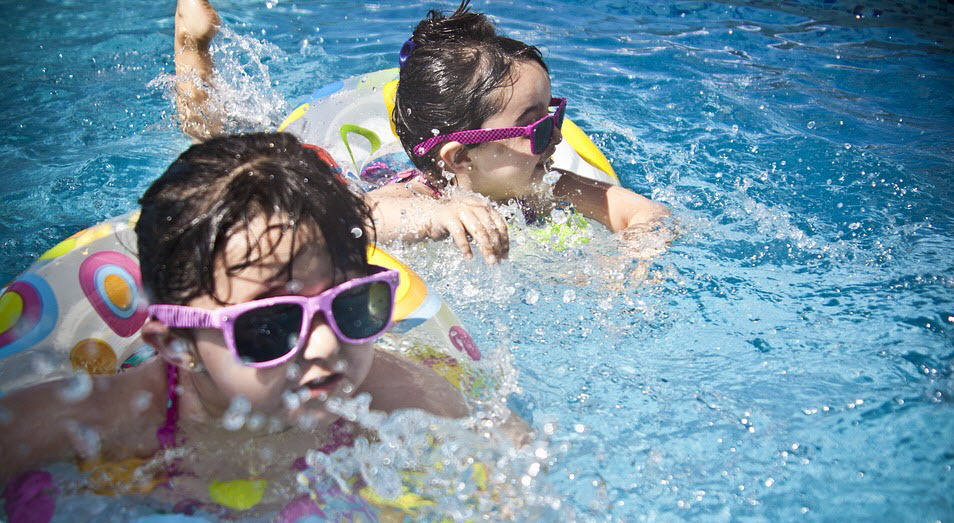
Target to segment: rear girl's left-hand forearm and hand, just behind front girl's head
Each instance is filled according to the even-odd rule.
[[[440,240],[450,236],[461,252],[473,256],[468,237],[487,263],[510,252],[507,224],[486,198],[457,194],[435,200],[420,182],[393,183],[365,195],[371,206],[376,241]]]

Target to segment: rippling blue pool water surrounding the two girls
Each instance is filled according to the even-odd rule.
[[[218,2],[233,127],[393,67],[438,6]],[[475,7],[544,50],[569,117],[679,230],[642,261],[605,234],[557,253],[518,232],[493,268],[398,249],[512,355],[510,405],[551,449],[533,488],[581,521],[954,519],[954,5]],[[6,10],[3,282],[189,144],[173,2]]]

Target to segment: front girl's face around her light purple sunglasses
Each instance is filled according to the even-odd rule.
[[[235,234],[229,240],[225,257],[229,265],[246,259],[246,239],[261,251],[253,251],[252,259],[264,258],[226,277],[223,264],[216,267],[216,291],[228,304],[283,295],[313,296],[345,280],[364,276],[357,273],[335,273],[331,257],[317,231],[297,233],[294,245],[291,234],[279,240],[282,218],[273,218],[271,228],[265,219],[253,221],[248,234]],[[295,251],[292,251],[294,247]],[[284,270],[292,260],[293,280]],[[220,306],[209,296],[188,305],[205,309]],[[334,419],[322,408],[330,396],[351,396],[368,375],[373,359],[370,344],[347,345],[338,340],[322,314],[316,314],[310,334],[298,354],[277,367],[253,368],[243,365],[226,347],[222,331],[195,329],[199,361],[217,390],[208,391],[212,412],[222,410],[232,398],[247,399],[254,412],[280,416],[290,423],[322,425]],[[203,391],[200,391],[200,394]],[[288,403],[290,397],[301,402]],[[206,403],[210,403],[207,401]],[[289,408],[291,406],[292,408]],[[206,405],[210,407],[210,405]]]

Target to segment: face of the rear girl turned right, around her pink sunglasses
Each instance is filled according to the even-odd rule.
[[[550,105],[550,75],[535,62],[515,66],[516,81],[498,96],[504,108],[481,125],[484,129],[525,126],[547,115]],[[468,151],[469,168],[455,173],[458,184],[497,201],[536,194],[541,190],[546,163],[562,139],[559,130],[542,154],[531,152],[530,140],[511,138],[487,142]]]

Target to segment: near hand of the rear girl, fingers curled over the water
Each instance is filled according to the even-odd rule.
[[[507,223],[490,202],[477,195],[455,195],[431,211],[427,234],[440,240],[450,236],[467,258],[473,257],[470,240],[477,242],[487,263],[498,263],[510,252]]]

